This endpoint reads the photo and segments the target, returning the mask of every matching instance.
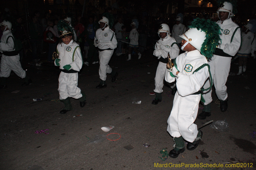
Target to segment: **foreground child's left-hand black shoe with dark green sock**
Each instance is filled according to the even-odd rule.
[[[174,137],[173,141],[175,143],[173,146],[174,148],[169,152],[169,156],[172,158],[177,158],[180,153],[185,151],[185,144],[182,136]]]

